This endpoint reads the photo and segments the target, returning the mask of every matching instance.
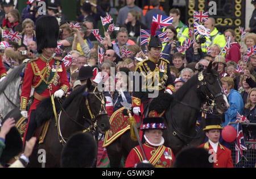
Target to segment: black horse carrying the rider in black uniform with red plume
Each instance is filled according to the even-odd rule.
[[[205,103],[210,108],[204,111],[216,115],[225,113],[229,107],[228,99],[222,90],[219,74],[212,69],[212,63],[206,70],[189,79],[174,95],[166,98],[166,101],[170,102],[168,105],[164,104],[167,107],[164,116],[164,123],[167,126],[167,130],[163,134],[164,145],[172,148],[175,155],[190,143],[193,145],[203,143],[205,139],[202,130],[204,120],[201,122],[199,132],[196,132],[196,120]],[[108,145],[106,148],[111,167],[119,167],[121,158],[126,159],[130,150],[136,145],[138,143],[130,138],[130,131]]]

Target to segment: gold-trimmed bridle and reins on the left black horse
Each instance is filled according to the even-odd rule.
[[[88,118],[85,118],[85,116],[82,116],[82,118],[84,118],[85,120],[87,120],[89,123],[91,122],[92,124],[89,126],[89,127],[84,127],[82,124],[78,123],[75,119],[73,119],[71,116],[68,115],[67,111],[65,111],[65,109],[63,109],[63,107],[61,106],[61,103],[60,103],[60,107],[61,107],[61,111],[60,111],[60,114],[59,114],[59,118],[58,118],[58,121],[57,121],[57,130],[58,130],[58,134],[59,134],[59,137],[61,137],[61,140],[59,139],[60,143],[64,142],[66,143],[65,139],[68,139],[68,138],[65,138],[63,137],[63,135],[61,134],[61,130],[60,130],[60,115],[61,115],[61,112],[63,111],[65,113],[65,115],[68,116],[68,119],[72,120],[72,122],[75,122],[78,126],[84,128],[85,130],[83,130],[82,132],[91,132],[93,135],[96,133],[96,127],[97,127],[97,119],[99,116],[101,115],[106,115],[108,114],[107,111],[106,111],[106,107],[105,107],[105,98],[104,98],[104,95],[102,92],[96,92],[96,89],[97,89],[97,86],[94,88],[93,92],[87,92],[87,88],[85,89],[85,93],[86,93],[86,96],[85,96],[85,105],[86,105],[86,108],[88,109],[88,112],[90,114],[90,119]],[[100,111],[94,115],[92,113],[92,108],[90,106],[90,103],[89,103],[89,99],[87,97],[88,94],[93,94],[96,96],[96,98],[98,98],[100,101],[101,101],[101,108],[100,108]],[[97,94],[100,94],[100,97],[97,96]]]

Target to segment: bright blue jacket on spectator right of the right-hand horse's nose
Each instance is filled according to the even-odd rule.
[[[228,126],[230,122],[236,122],[237,111],[240,114],[243,111],[243,99],[237,90],[231,89],[228,94],[228,102],[230,107],[225,113],[225,122],[222,123],[223,127]],[[232,126],[237,129],[237,124],[232,124]]]

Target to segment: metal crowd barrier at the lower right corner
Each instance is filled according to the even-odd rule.
[[[237,123],[229,123],[230,124],[237,124]],[[241,123],[242,126],[256,126],[256,123]],[[243,136],[246,136],[243,131]],[[247,151],[243,151],[243,157],[241,161],[236,164],[236,149],[235,145],[236,142],[230,143],[230,150],[232,152],[232,159],[235,168],[256,168],[256,141],[249,141],[246,137],[245,144],[247,147]]]

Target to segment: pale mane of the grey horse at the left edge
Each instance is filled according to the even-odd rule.
[[[6,89],[7,85],[9,85],[11,81],[14,81],[16,78],[20,77],[20,73],[25,66],[26,64],[21,64],[11,70],[9,74],[7,74],[6,78],[2,82],[0,82],[0,94],[3,92],[3,90]]]

